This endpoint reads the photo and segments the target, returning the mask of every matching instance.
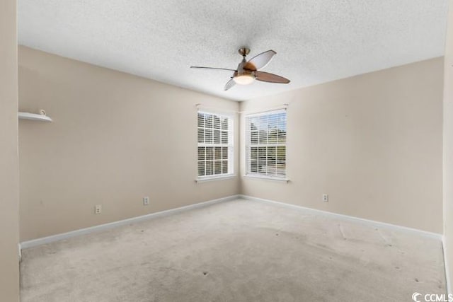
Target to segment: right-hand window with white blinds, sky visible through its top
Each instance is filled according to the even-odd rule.
[[[246,116],[246,175],[286,178],[286,110]]]

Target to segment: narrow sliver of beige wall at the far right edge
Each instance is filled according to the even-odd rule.
[[[444,76],[444,246],[447,276],[453,276],[453,0],[449,1]],[[452,292],[451,279],[448,285]]]

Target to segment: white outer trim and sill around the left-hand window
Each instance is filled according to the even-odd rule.
[[[220,117],[228,117],[228,119],[229,119],[229,129],[228,129],[229,144],[227,144],[228,150],[229,150],[229,155],[228,155],[228,171],[229,171],[229,173],[199,176],[198,171],[197,171],[197,178],[195,178],[195,182],[207,182],[207,181],[212,181],[212,180],[226,180],[229,178],[236,177],[236,174],[234,173],[234,148],[235,148],[235,146],[234,146],[234,114],[232,114],[231,112],[222,112],[222,111],[197,110],[197,116],[199,113],[207,114],[207,115],[219,115]],[[197,129],[198,129],[198,124],[197,124]],[[199,146],[199,144],[200,143],[197,143],[197,147]],[[212,144],[212,146],[214,146],[214,144]],[[225,146],[225,145],[219,144],[219,146]],[[197,156],[198,156],[198,153],[197,153]],[[198,163],[198,159],[197,159],[197,163]]]

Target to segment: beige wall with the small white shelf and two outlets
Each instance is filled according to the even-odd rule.
[[[19,47],[19,109],[44,109],[54,120],[19,123],[21,240],[239,194],[239,177],[195,182],[197,103],[239,110],[231,100]]]

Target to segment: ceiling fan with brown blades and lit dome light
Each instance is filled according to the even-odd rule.
[[[269,64],[270,60],[274,57],[277,52],[273,50],[268,50],[267,52],[262,52],[250,60],[246,60],[247,54],[250,53],[250,50],[246,47],[242,47],[238,50],[239,54],[242,56],[242,61],[239,63],[236,69],[226,69],[226,68],[216,68],[216,67],[202,67],[202,66],[190,66],[190,68],[200,68],[200,69],[218,69],[218,70],[229,70],[234,71],[231,79],[226,82],[224,90],[228,90],[233,87],[235,84],[239,85],[248,85],[253,83],[253,81],[263,81],[269,83],[289,83],[288,79],[285,79],[282,76],[277,76],[276,74],[270,74],[268,72],[259,71],[266,65]]]

